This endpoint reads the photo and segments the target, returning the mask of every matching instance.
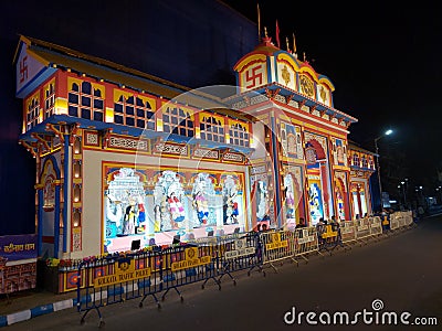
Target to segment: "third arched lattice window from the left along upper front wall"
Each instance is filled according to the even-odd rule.
[[[167,108],[162,113],[162,130],[186,137],[193,137],[193,120],[188,111],[181,108]]]

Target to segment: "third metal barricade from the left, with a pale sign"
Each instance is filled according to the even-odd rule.
[[[219,257],[220,277],[228,275],[236,285],[233,271],[248,269],[248,276],[254,268],[262,271],[260,236],[257,233],[245,233],[236,236],[219,237],[217,254]]]

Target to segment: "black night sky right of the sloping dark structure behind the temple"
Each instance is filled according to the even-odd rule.
[[[256,2],[224,1],[252,21]],[[380,152],[406,156],[407,174],[420,181],[435,175],[442,161],[442,12],[438,1],[412,6],[392,1],[259,1],[261,25],[275,41],[275,21],[285,36],[296,35],[299,58],[334,83],[335,107],[359,119],[350,139]]]

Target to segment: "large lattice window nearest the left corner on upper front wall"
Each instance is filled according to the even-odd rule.
[[[72,83],[69,93],[69,115],[104,121],[104,99],[102,90],[90,82]]]

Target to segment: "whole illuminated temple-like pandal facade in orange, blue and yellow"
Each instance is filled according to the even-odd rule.
[[[347,139],[357,120],[334,108],[326,76],[267,36],[235,64],[227,98],[27,36],[14,63],[40,256],[371,212],[373,156],[355,162],[364,152]]]

